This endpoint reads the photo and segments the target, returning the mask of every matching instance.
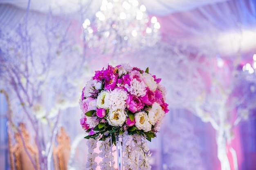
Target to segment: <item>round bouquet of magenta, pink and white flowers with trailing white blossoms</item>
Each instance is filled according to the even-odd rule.
[[[79,102],[83,112],[80,124],[88,132],[85,138],[90,139],[93,148],[96,146],[91,139],[104,141],[105,148],[112,148],[106,147],[106,141],[109,143],[111,140],[115,144],[115,133],[124,135],[126,153],[134,154],[131,152],[134,150],[132,147],[143,146],[144,156],[137,155],[143,157],[144,161],[137,162],[137,166],[144,164],[148,167],[145,153],[150,154],[143,139],[151,141],[156,136],[168,112],[166,89],[159,84],[160,81],[148,73],[148,68],[143,71],[129,64],[115,67],[108,65],[106,69],[95,71],[95,75],[83,88]],[[106,154],[101,152],[101,157]],[[88,167],[95,167],[94,159],[95,155],[88,158],[91,162]],[[108,155],[107,161],[110,159],[112,163],[112,157]],[[128,164],[125,166],[134,166],[134,163]]]

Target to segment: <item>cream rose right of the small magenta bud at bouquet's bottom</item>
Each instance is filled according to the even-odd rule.
[[[135,126],[139,130],[148,132],[151,130],[151,124],[149,123],[148,115],[145,112],[138,112],[134,115]]]

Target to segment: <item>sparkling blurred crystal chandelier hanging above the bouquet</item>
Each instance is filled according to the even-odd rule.
[[[89,48],[101,53],[126,52],[153,46],[160,39],[160,24],[149,18],[145,5],[137,0],[102,0],[94,20],[83,22]]]

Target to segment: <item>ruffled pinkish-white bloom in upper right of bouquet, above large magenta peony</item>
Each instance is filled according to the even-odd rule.
[[[130,82],[130,86],[125,84],[124,87],[128,92],[137,97],[146,95],[146,84],[144,82],[139,82],[136,78]]]

